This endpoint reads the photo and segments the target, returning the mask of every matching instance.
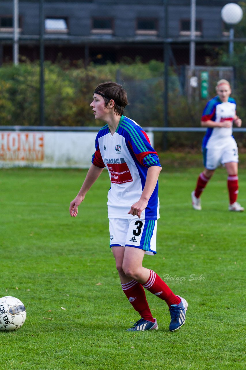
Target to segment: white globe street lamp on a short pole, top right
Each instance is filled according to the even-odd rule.
[[[235,3],[226,4],[221,9],[222,20],[231,26],[230,28],[230,42],[229,42],[229,54],[233,54],[233,39],[234,39],[234,28],[235,24],[238,24],[243,18],[242,8]]]

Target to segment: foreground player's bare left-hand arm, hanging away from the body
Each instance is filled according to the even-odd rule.
[[[69,212],[71,217],[76,217],[78,214],[78,206],[83,202],[86,193],[89,191],[94,182],[101,175],[103,168],[90,166],[89,171],[87,172],[86,178],[84,179],[83,185],[78,193],[78,195],[70,203]]]

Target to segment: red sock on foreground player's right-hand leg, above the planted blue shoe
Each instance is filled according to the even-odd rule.
[[[166,301],[167,305],[178,305],[181,300],[177,297],[171,289],[164,283],[164,281],[154,271],[150,270],[149,279],[143,284],[145,289],[153,293],[155,296]]]

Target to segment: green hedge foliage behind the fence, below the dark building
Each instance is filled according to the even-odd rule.
[[[236,45],[236,48],[238,46]],[[246,49],[240,47],[235,53],[237,78],[236,98],[239,115],[245,118]],[[228,65],[226,51],[217,54],[219,63]],[[116,81],[127,90],[129,105],[124,114],[143,127],[164,126],[164,78],[163,63],[151,60],[142,63],[91,63],[87,68],[83,62],[69,67],[66,61],[52,64],[46,61],[45,70],[45,125],[46,126],[101,126],[95,121],[90,103],[95,87],[104,81]],[[235,96],[233,92],[233,96]],[[169,68],[168,125],[171,127],[200,127],[204,101],[188,102],[181,94],[179,77]],[[18,66],[5,64],[0,68],[0,125],[39,125],[39,64],[20,63]],[[161,145],[162,134],[156,134]],[[170,146],[199,147],[201,137],[197,133],[168,134]],[[243,142],[243,139],[241,140]],[[242,144],[243,145],[243,144]]]

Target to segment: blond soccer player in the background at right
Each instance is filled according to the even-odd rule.
[[[191,193],[193,208],[201,210],[200,196],[215,169],[222,164],[228,173],[229,211],[243,212],[238,197],[238,147],[232,136],[233,123],[241,127],[242,121],[236,115],[236,102],[231,95],[227,80],[219,80],[217,96],[209,100],[202,113],[201,125],[207,127],[202,140],[204,171],[198,177],[195,190]]]

